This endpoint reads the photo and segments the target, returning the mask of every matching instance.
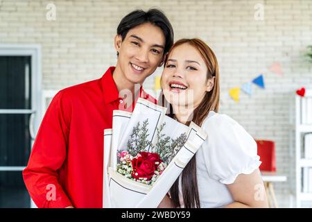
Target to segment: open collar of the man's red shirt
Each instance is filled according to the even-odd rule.
[[[116,101],[117,99],[119,99],[119,92],[118,92],[116,83],[114,82],[114,78],[112,77],[114,70],[115,70],[115,67],[108,68],[101,79],[105,104],[112,103],[113,101]],[[139,97],[144,98],[144,99],[148,99],[149,97],[149,95],[146,94],[146,92],[144,92],[142,86],[140,87],[140,93],[135,99],[135,103],[137,102],[137,99],[139,99]]]

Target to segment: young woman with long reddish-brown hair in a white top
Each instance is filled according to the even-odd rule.
[[[171,117],[195,122],[208,137],[159,207],[268,207],[256,142],[234,119],[218,114],[218,62],[205,42],[173,44],[162,90]]]

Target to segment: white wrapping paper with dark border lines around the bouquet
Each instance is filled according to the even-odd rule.
[[[167,117],[166,108],[145,99],[138,99],[132,114],[114,110],[113,128],[104,133],[103,207],[148,207],[159,205],[175,180],[198,148],[205,141],[206,133],[195,123],[185,126]],[[178,152],[153,185],[130,180],[116,172],[117,152],[127,149],[128,140],[137,123],[148,119],[148,141],[157,143],[157,128],[165,123],[162,133],[173,139],[183,133],[187,142],[178,147]],[[150,152],[150,146],[146,151]],[[110,157],[110,160],[107,160]]]

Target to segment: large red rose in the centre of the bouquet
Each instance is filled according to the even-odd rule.
[[[132,159],[132,176],[136,179],[146,178],[150,180],[154,171],[156,170],[157,164],[155,162],[162,162],[157,153],[140,152],[140,157]]]

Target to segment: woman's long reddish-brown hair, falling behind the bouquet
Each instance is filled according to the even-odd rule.
[[[220,100],[220,86],[219,86],[219,67],[218,61],[214,52],[198,38],[194,39],[182,39],[178,40],[173,44],[172,48],[168,52],[168,56],[175,49],[175,47],[180,46],[181,44],[190,44],[195,49],[198,50],[203,60],[205,61],[205,65],[207,66],[207,78],[214,78],[214,87],[210,92],[206,92],[204,99],[202,99],[200,105],[193,111],[193,121],[198,126],[202,126],[202,122],[205,117],[209,114],[209,111],[213,110],[214,112],[218,112],[219,100]],[[168,57],[167,57],[168,58]],[[167,58],[164,62],[164,66],[166,67]],[[165,105],[166,99],[164,98],[164,94],[162,94],[162,105]],[[172,105],[169,104],[168,107],[169,113],[168,116],[175,118],[173,113]],[[191,122],[187,122],[187,125]],[[171,200],[173,200],[173,204],[175,207],[180,206],[180,198],[179,198],[179,178],[175,181],[173,186],[170,189]],[[183,194],[183,202],[184,207],[186,208],[195,208],[200,207],[200,198],[198,194],[198,183],[197,183],[197,172],[196,172],[196,155],[190,160],[187,164],[187,167],[182,172],[182,194]]]

